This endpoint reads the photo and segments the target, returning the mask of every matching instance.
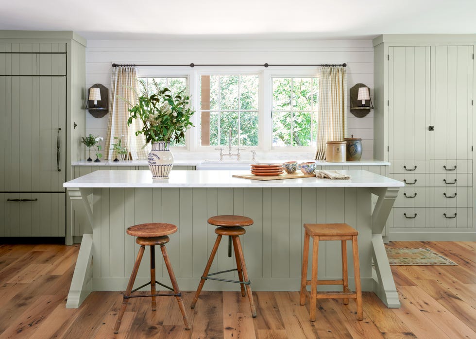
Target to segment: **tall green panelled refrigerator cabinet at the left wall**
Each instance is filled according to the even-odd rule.
[[[84,98],[82,37],[0,31],[0,237],[70,238],[63,183],[79,160]]]

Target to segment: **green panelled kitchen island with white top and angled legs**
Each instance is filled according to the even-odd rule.
[[[206,220],[219,214],[245,215],[255,221],[242,240],[254,290],[299,290],[303,223],[345,222],[359,232],[362,290],[374,291],[388,307],[399,307],[382,230],[404,183],[365,170],[342,172],[352,179],[257,181],[232,177],[249,171],[207,170],[172,171],[166,180],[153,180],[147,170],[99,170],[73,179],[64,186],[88,226],[67,307],[78,307],[93,290],[125,289],[138,250],[125,230],[146,222],[178,226],[167,249],[180,289],[195,290],[216,237],[215,227]],[[378,196],[374,209],[372,194]],[[227,250],[226,245],[220,247],[212,270],[233,267]],[[162,262],[159,256],[157,260]],[[340,279],[340,270],[340,244],[324,242],[319,246],[319,277]],[[163,265],[156,269],[157,280],[162,272],[168,283]],[[233,277],[234,272],[222,276]],[[149,280],[149,262],[143,260],[136,285]],[[352,279],[349,285],[353,288]],[[236,288],[220,281],[208,281],[205,287]]]

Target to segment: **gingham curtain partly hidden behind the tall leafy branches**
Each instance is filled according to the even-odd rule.
[[[123,135],[123,142],[131,159],[147,159],[149,153],[145,145],[143,135],[136,136],[136,131],[142,128],[140,120],[133,120],[131,126],[127,126],[130,105],[135,104],[137,90],[136,68],[130,66],[118,66],[113,68],[111,77],[111,96],[109,97],[109,123],[105,139],[104,151],[106,159],[116,157],[112,150],[112,144],[116,143],[115,136]],[[125,100],[125,101],[124,101]]]

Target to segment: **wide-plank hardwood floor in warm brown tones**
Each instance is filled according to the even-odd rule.
[[[65,308],[78,245],[0,245],[0,338],[476,338],[476,242],[389,246],[428,247],[458,266],[391,266],[402,307],[364,292],[362,322],[352,300],[318,301],[309,322],[298,292],[255,292],[253,319],[238,290],[203,291],[194,310],[187,291],[190,331],[175,299],[159,298],[152,312],[149,298],[135,298],[114,336],[120,292],[94,292],[80,308]]]

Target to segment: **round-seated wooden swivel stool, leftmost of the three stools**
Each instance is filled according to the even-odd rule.
[[[170,240],[168,235],[177,232],[177,226],[172,225],[170,223],[161,222],[145,223],[131,226],[127,229],[126,232],[131,236],[137,237],[136,243],[140,245],[140,248],[139,253],[137,253],[136,263],[134,264],[134,268],[131,273],[131,278],[129,279],[129,284],[127,284],[127,289],[123,296],[122,306],[119,310],[118,320],[116,321],[116,326],[114,326],[114,333],[117,334],[119,332],[120,322],[122,320],[122,316],[124,315],[124,311],[126,310],[127,301],[129,300],[129,298],[141,297],[152,297],[152,310],[155,311],[155,297],[175,296],[175,298],[177,299],[177,303],[180,307],[180,311],[182,312],[182,316],[184,317],[185,329],[190,329],[190,325],[187,321],[187,314],[185,313],[184,302],[182,301],[182,294],[180,293],[177,280],[175,279],[175,274],[173,274],[172,265],[170,264],[169,256],[167,255],[167,249],[165,248],[165,244],[168,243]],[[167,271],[169,271],[170,281],[172,282],[173,288],[170,288],[169,286],[155,281],[155,245],[160,245],[160,249],[162,250],[162,256],[164,257],[165,265],[167,266]],[[139,270],[140,261],[142,260],[142,255],[144,254],[145,246],[151,247],[151,281],[132,290],[134,286],[134,281],[136,280],[137,271]],[[160,286],[170,289],[171,291],[173,291],[173,293],[156,294],[156,283]],[[131,293],[134,293],[140,288],[146,287],[149,284],[151,285],[151,294],[131,295]]]

